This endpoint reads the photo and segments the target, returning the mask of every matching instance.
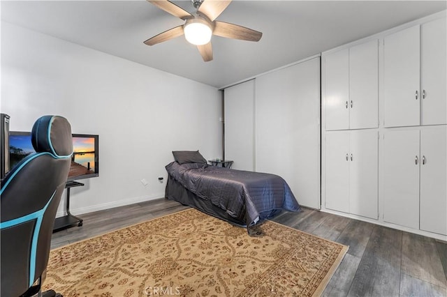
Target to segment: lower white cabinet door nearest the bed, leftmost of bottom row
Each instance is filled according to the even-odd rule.
[[[325,207],[349,213],[349,132],[325,135]]]

